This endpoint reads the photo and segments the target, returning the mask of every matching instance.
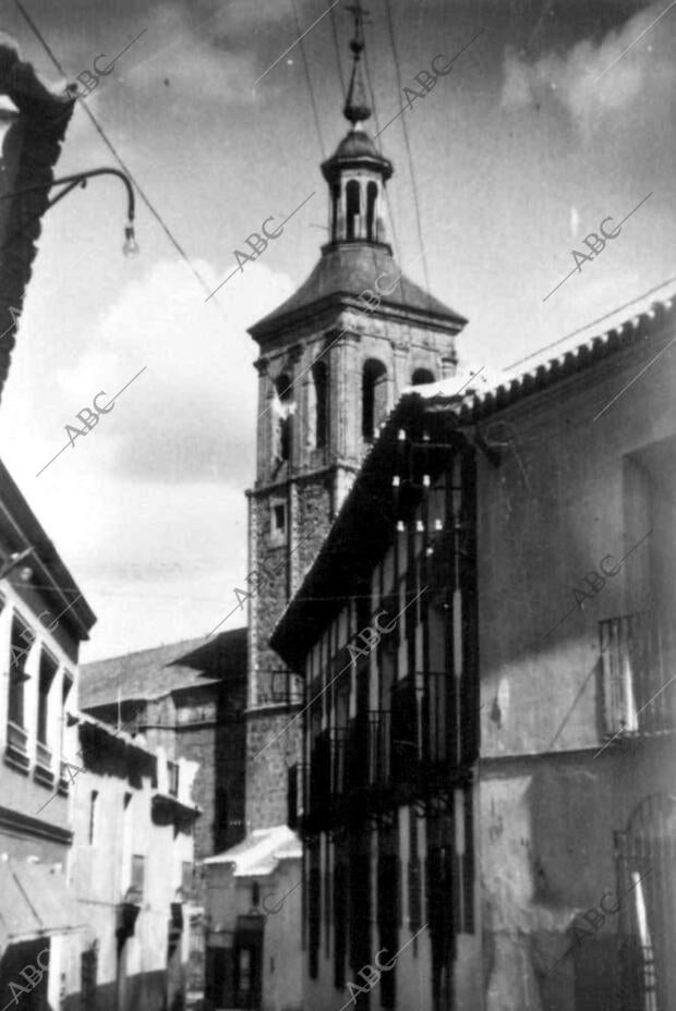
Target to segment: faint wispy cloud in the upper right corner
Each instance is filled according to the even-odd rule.
[[[637,103],[644,107],[657,98],[655,93],[667,99],[676,80],[675,33],[668,15],[653,26],[663,12],[663,5],[651,4],[597,45],[583,39],[564,56],[547,53],[534,63],[508,48],[503,108],[516,112],[558,107],[589,134],[604,115]]]

